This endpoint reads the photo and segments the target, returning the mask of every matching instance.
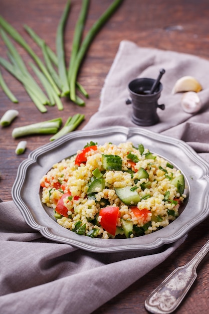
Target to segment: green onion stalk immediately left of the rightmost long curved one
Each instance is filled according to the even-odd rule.
[[[71,57],[70,57],[69,70],[68,70],[69,82],[70,82],[70,76],[71,76],[73,64],[75,63],[76,55],[79,51],[81,38],[83,35],[83,29],[85,26],[86,16],[88,12],[88,7],[89,7],[89,0],[83,0],[80,15],[77,20],[75,31],[74,31],[74,36],[73,36],[72,52],[71,52]]]

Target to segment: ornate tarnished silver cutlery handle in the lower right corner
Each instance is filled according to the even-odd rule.
[[[197,277],[196,267],[209,251],[209,240],[184,266],[176,268],[147,297],[145,308],[154,314],[172,313],[180,304]]]

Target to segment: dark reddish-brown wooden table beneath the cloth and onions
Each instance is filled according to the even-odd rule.
[[[85,34],[93,22],[110,5],[111,0],[92,0],[89,8]],[[66,62],[69,61],[75,22],[80,10],[81,0],[72,0],[70,19],[65,32]],[[55,51],[55,37],[59,19],[65,6],[65,0],[1,0],[0,14],[27,39],[34,51],[42,58],[40,49],[29,38],[23,24],[32,27]],[[1,195],[4,201],[12,200],[11,189],[16,178],[18,166],[35,148],[49,142],[50,135],[28,136],[27,150],[23,155],[16,155],[18,139],[11,136],[17,126],[44,121],[55,117],[67,117],[75,113],[85,114],[88,122],[98,110],[99,97],[105,77],[114,60],[121,40],[130,40],[141,47],[173,50],[209,58],[208,35],[209,2],[198,0],[125,0],[120,9],[103,27],[92,43],[79,73],[79,81],[89,92],[85,107],[79,107],[67,99],[62,99],[64,110],[49,107],[47,113],[40,113],[27,95],[21,83],[1,67],[3,76],[19,99],[13,104],[0,92],[0,116],[8,109],[17,109],[20,114],[10,127],[1,128],[0,136],[0,170]],[[26,62],[28,54],[20,46],[18,51]],[[0,40],[0,55],[7,57],[5,45]],[[125,291],[101,306],[94,313],[131,314],[146,313],[144,300],[149,293],[176,267],[188,262],[209,238],[209,219],[188,234],[187,240],[163,263],[137,280]],[[187,297],[182,301],[177,313],[207,313],[209,295],[209,272],[205,257],[197,269],[198,277]],[[128,265],[127,265],[128,267]]]

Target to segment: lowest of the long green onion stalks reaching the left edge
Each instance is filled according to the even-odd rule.
[[[24,76],[22,76],[20,74],[20,72],[17,72],[17,68],[15,68],[10,62],[8,62],[6,59],[0,57],[0,64],[8,71],[10,72],[14,77],[16,77],[21,83],[23,83],[27,93],[29,94],[29,96],[31,97],[32,101],[35,103],[35,105],[37,106],[37,108],[41,111],[41,112],[46,112],[47,109],[46,107],[43,105],[43,103],[40,101],[40,99],[38,98],[38,95],[35,93],[34,94],[34,90],[31,90],[31,87],[28,83],[28,80],[26,78],[24,78]]]

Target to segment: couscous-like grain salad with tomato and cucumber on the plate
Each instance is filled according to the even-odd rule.
[[[40,181],[57,223],[90,237],[133,238],[178,217],[186,195],[180,170],[132,142],[90,142]]]

